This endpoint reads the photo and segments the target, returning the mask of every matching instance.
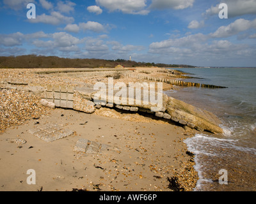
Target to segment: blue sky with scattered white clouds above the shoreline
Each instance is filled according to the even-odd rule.
[[[256,0],[1,0],[0,27],[1,56],[256,67]]]

